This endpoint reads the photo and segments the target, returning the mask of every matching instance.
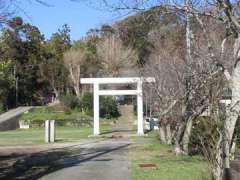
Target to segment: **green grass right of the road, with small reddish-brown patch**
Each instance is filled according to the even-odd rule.
[[[129,148],[132,180],[210,180],[207,163],[200,156],[176,157],[171,146],[162,145],[151,133],[134,138]],[[140,143],[142,142],[142,144]],[[145,143],[144,143],[145,142]],[[139,164],[155,164],[157,168],[141,168]]]

